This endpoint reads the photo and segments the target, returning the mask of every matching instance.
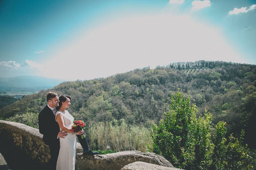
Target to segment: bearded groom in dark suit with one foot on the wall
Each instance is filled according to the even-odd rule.
[[[39,132],[43,134],[43,142],[49,146],[51,158],[49,160],[49,168],[56,169],[59,156],[59,138],[65,138],[67,132],[59,130],[59,125],[55,120],[55,111],[59,105],[59,97],[55,92],[48,92],[46,95],[48,104],[43,108],[38,116]],[[98,152],[90,150],[86,138],[82,139],[81,135],[77,135],[78,140],[83,147],[83,155],[95,155]]]

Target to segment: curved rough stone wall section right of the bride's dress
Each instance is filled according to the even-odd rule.
[[[83,156],[82,153],[76,154],[77,170],[120,170],[125,165],[141,161],[164,167],[174,168],[163,156],[155,153],[140,151],[122,151],[106,155]]]

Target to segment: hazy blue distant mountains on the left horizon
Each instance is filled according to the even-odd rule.
[[[61,79],[46,78],[40,76],[19,76],[19,77],[0,77],[0,87],[19,87],[19,88],[51,88],[63,82]]]

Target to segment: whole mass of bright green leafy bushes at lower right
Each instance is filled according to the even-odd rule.
[[[197,107],[180,91],[172,94],[170,111],[152,128],[153,151],[163,155],[175,167],[194,169],[254,169],[251,152],[240,139],[225,139],[225,122],[210,133],[212,114],[196,117]]]

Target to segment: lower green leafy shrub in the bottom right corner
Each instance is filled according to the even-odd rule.
[[[255,169],[255,158],[247,145],[243,146],[244,131],[241,131],[239,138],[233,137],[231,134],[229,140],[225,138],[226,122],[219,122],[216,125],[214,133],[214,154],[211,169],[217,170],[239,170],[239,169]]]

